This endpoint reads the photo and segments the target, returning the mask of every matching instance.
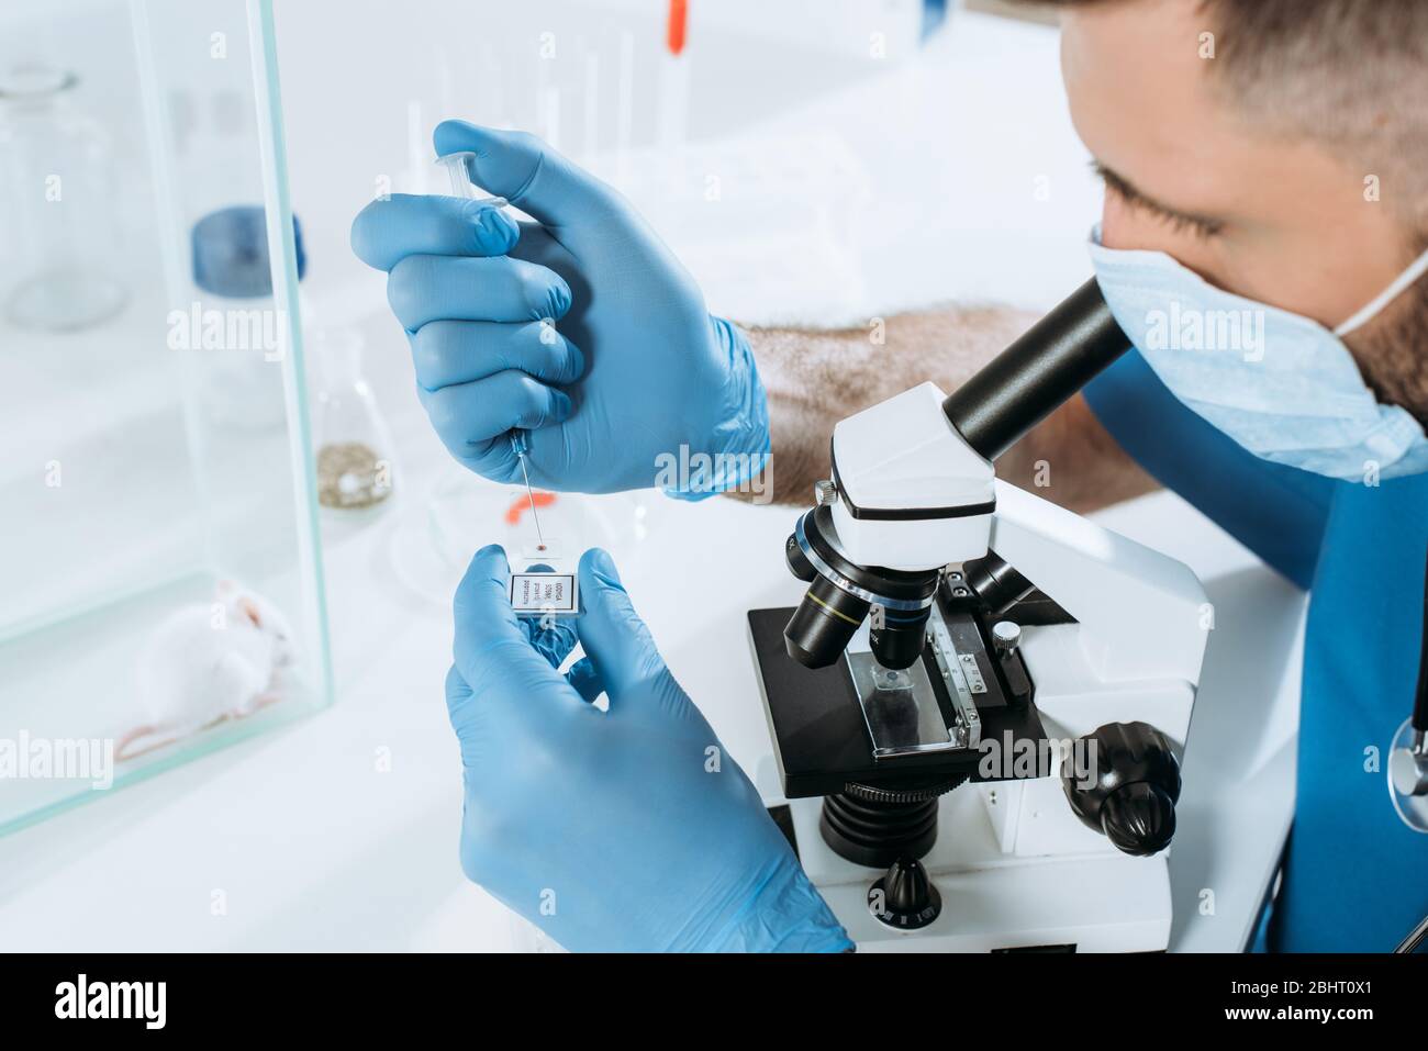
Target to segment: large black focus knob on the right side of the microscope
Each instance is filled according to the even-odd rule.
[[[1082,824],[1127,854],[1155,854],[1175,835],[1180,761],[1150,723],[1108,723],[1082,737],[1061,785]]]

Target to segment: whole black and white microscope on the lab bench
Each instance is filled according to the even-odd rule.
[[[1188,567],[995,478],[1130,348],[1088,281],[951,396],[833,433],[751,610],[787,800],[860,951],[1154,951],[1210,605]]]

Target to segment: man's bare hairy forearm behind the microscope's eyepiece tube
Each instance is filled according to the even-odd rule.
[[[865,328],[748,330],[773,431],[761,488],[771,488],[777,503],[807,504],[813,483],[828,474],[838,420],[924,380],[954,390],[1034,320],[1012,310],[947,307],[874,318]],[[997,473],[1075,511],[1155,488],[1080,396],[1008,450]]]

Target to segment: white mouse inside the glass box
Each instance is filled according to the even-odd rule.
[[[277,607],[231,580],[210,605],[166,617],[139,657],[140,724],[114,747],[119,760],[281,700],[281,671],[296,660],[293,630]]]

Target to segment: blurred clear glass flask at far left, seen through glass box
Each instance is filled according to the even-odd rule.
[[[76,107],[77,84],[50,66],[0,70],[4,313],[21,328],[89,328],[127,300],[113,258],[114,157],[100,124]]]

